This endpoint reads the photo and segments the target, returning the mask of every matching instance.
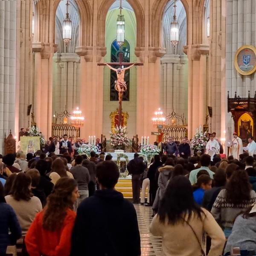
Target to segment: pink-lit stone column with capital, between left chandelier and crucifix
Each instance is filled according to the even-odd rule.
[[[105,48],[77,47],[76,53],[80,56],[80,106],[85,117],[84,126],[80,129],[80,136],[87,140],[88,136],[96,137],[102,134],[103,113],[103,66],[97,63],[102,61],[106,54]]]

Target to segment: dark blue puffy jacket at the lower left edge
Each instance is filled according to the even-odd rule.
[[[21,227],[14,209],[9,204],[0,203],[0,256],[6,255],[7,246],[16,244],[20,237]]]

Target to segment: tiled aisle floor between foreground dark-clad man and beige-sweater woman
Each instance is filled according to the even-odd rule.
[[[152,209],[143,205],[134,205],[140,229],[141,256],[160,256],[162,238],[153,236],[149,232],[149,225],[152,220]]]

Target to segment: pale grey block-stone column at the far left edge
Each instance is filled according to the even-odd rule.
[[[16,1],[0,1],[0,154],[4,134],[15,133]]]

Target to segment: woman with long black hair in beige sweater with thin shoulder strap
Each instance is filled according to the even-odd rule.
[[[225,236],[212,215],[198,206],[188,178],[173,177],[150,225],[154,236],[163,236],[162,255],[205,255],[203,234],[212,238],[208,255],[221,255]]]

